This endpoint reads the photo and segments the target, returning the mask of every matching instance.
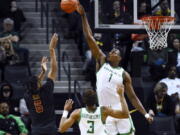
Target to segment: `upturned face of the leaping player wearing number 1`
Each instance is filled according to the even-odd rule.
[[[108,61],[109,62],[120,62],[120,60],[121,60],[120,51],[118,49],[112,49],[109,52]]]

